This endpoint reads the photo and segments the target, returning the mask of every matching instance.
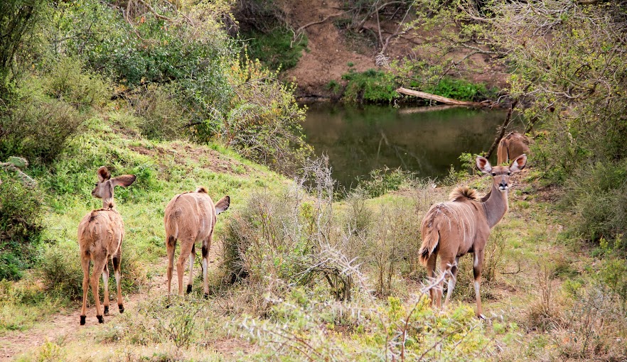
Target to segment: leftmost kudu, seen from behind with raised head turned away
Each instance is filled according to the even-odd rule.
[[[87,290],[92,285],[92,294],[96,302],[96,317],[98,322],[104,322],[98,296],[98,278],[102,274],[104,284],[104,314],[109,314],[109,267],[107,259],[113,262],[113,273],[117,285],[117,306],[119,312],[124,312],[122,290],[120,289],[120,270],[122,262],[122,239],[124,239],[124,223],[115,209],[113,191],[116,186],[130,186],[135,181],[134,175],[122,175],[111,178],[106,167],[98,169],[98,182],[92,190],[94,197],[102,199],[102,209],[92,210],[85,215],[78,224],[78,248],[82,266],[82,310],[80,325],[85,324],[85,309],[87,308]],[[94,269],[90,278],[90,264]]]

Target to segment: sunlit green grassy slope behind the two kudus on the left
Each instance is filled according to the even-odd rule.
[[[230,209],[237,210],[253,190],[275,190],[288,182],[281,175],[242,159],[218,144],[199,146],[185,141],[141,138],[129,119],[132,118],[122,114],[90,119],[51,172],[36,171],[41,187],[48,189],[44,238],[52,241],[52,246],[43,247],[42,256],[49,255],[48,248],[66,253],[63,260],[74,264],[69,268],[73,277],[82,278],[76,241],[78,223],[91,209],[102,207],[100,199],[90,193],[100,165],[107,165],[114,176],[124,173],[138,176],[132,187],[117,187],[115,201],[126,229],[123,272],[124,263],[134,260],[133,271],[139,274],[134,277],[139,281],[165,275],[164,208],[175,194],[205,186],[215,200],[229,194]],[[220,234],[222,227],[223,223],[218,221],[216,234]],[[18,297],[26,293],[37,297],[19,307],[2,306],[0,336],[9,335],[12,330],[26,331],[47,319],[51,312],[76,309],[77,304],[67,305],[63,295],[41,300],[41,294],[36,291],[42,287],[38,279],[39,275],[30,275],[16,288],[25,291],[14,292]],[[137,290],[138,286],[129,285],[129,278],[126,279],[123,278],[123,283],[127,282],[124,291]]]

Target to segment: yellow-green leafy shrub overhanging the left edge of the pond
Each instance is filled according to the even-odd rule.
[[[279,172],[294,172],[312,149],[301,122],[305,108],[294,99],[294,84],[284,84],[259,61],[244,59],[230,68],[235,89],[224,119],[205,121],[198,137],[218,137],[240,155]]]

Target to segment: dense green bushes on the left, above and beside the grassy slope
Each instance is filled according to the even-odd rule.
[[[220,143],[286,173],[311,154],[294,87],[249,60],[243,44],[225,31],[231,6],[3,2],[0,160],[21,156],[31,163],[27,174],[57,177],[46,180],[41,192],[19,188],[11,179],[0,186],[18,187],[14,199],[4,199],[9,191],[2,196],[0,278],[16,278],[32,265],[41,238],[41,202],[55,194],[89,194],[86,180],[75,180],[70,170],[112,163],[104,154],[72,159],[75,140],[93,119],[110,119],[156,140]],[[49,254],[47,260],[63,256],[57,246],[42,253]],[[54,265],[46,270],[56,273]],[[71,287],[65,292],[76,295]]]

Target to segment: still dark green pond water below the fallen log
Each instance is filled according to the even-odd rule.
[[[333,177],[355,184],[370,170],[402,168],[444,177],[461,153],[487,150],[505,112],[443,107],[395,109],[311,104],[303,124],[317,155],[326,153]]]

